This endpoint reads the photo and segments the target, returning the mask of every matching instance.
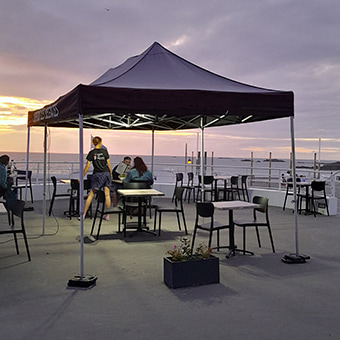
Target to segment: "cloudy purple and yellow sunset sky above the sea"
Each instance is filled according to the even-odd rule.
[[[0,153],[25,151],[27,112],[154,41],[230,79],[295,95],[297,157],[340,160],[338,0],[0,0]],[[155,133],[155,153],[196,152],[197,130]],[[110,153],[149,154],[151,132],[86,130]],[[289,158],[289,119],[205,130],[218,157]],[[77,129],[49,129],[50,152],[76,153]],[[43,151],[43,129],[30,150]]]

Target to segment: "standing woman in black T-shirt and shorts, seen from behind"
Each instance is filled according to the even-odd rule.
[[[112,182],[112,171],[110,165],[110,156],[107,150],[102,148],[102,139],[100,137],[94,137],[92,143],[94,145],[94,149],[92,149],[86,156],[87,163],[84,168],[85,176],[92,162],[93,175],[91,178],[91,189],[85,203],[83,216],[84,219],[96,190],[104,188],[106,208],[110,208],[111,206],[110,186]]]

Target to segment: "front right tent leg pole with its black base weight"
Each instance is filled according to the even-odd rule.
[[[289,264],[306,263],[306,260],[310,259],[308,255],[302,255],[299,253],[299,228],[298,228],[298,202],[296,196],[296,162],[295,162],[295,136],[294,136],[294,117],[290,117],[290,136],[291,136],[291,148],[292,148],[292,177],[294,188],[294,222],[295,222],[295,253],[284,255],[282,262]]]

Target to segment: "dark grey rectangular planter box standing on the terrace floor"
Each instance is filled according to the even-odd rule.
[[[169,288],[206,285],[220,282],[219,259],[173,262],[169,257],[163,259],[164,283]]]

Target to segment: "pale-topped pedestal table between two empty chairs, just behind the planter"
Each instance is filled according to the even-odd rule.
[[[229,258],[230,256],[235,256],[235,252],[238,249],[235,245],[234,210],[254,209],[259,205],[245,201],[220,201],[213,202],[213,205],[215,209],[229,210],[229,253],[226,255],[226,258]]]

